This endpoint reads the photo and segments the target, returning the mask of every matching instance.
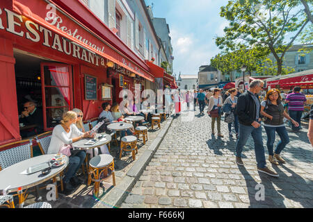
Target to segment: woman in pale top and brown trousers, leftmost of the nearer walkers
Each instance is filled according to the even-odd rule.
[[[223,98],[220,96],[220,89],[214,89],[213,96],[209,99],[209,105],[207,108],[207,113],[211,116],[211,130],[212,135],[214,133],[214,125],[217,122],[217,129],[218,129],[218,137],[224,137],[220,133],[220,119],[222,117],[222,105],[223,105]]]

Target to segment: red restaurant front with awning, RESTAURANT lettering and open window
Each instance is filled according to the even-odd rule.
[[[135,79],[154,80],[149,70],[41,0],[1,2],[0,69],[0,145],[52,130],[72,108],[81,109],[84,120],[98,117],[104,101],[119,101],[118,89],[134,91]],[[29,101],[41,113],[40,127],[22,123]]]

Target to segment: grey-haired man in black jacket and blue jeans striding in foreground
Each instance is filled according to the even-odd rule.
[[[257,159],[257,171],[270,176],[278,177],[278,173],[266,167],[264,146],[261,128],[261,103],[257,94],[263,89],[262,80],[253,80],[248,91],[239,96],[236,105],[236,114],[239,119],[239,139],[236,144],[236,164],[243,166],[241,153],[246,145],[248,137],[252,135],[255,142],[255,157]]]

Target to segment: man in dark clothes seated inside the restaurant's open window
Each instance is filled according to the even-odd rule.
[[[19,123],[24,123],[26,126],[35,125],[35,127],[26,132],[22,132],[22,137],[31,137],[43,133],[44,131],[42,110],[36,106],[37,105],[32,101],[24,103],[24,111],[21,113]]]

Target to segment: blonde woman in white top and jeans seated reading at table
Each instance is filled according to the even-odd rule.
[[[54,130],[52,131],[48,154],[59,153],[63,146],[77,142],[85,137],[93,137],[93,135],[90,135],[90,132],[82,133],[79,131],[77,126],[74,124],[76,122],[76,112],[67,111],[63,114],[61,124],[58,124],[56,127],[54,127]],[[73,191],[74,187],[81,184],[81,181],[75,177],[75,173],[77,173],[79,167],[81,167],[81,164],[83,164],[85,157],[86,153],[84,151],[71,150],[67,172],[63,178],[65,192]]]

